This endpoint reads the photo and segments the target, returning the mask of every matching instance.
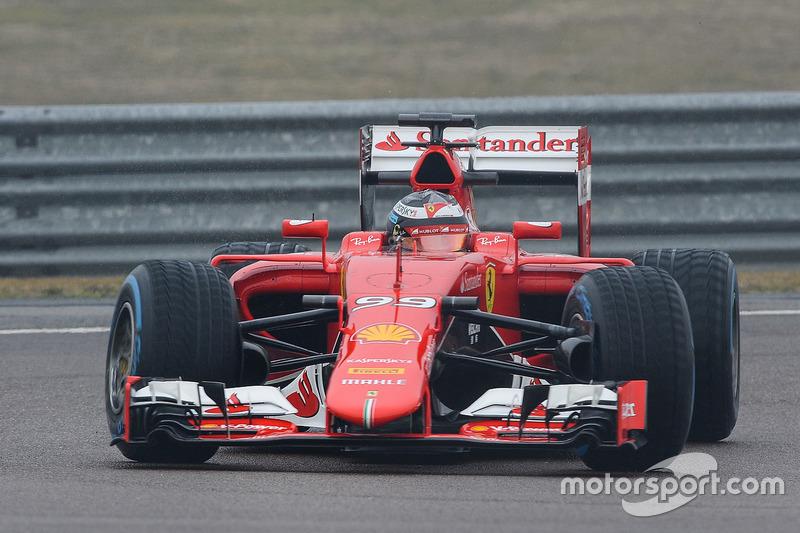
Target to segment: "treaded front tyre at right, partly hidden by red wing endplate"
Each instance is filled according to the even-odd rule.
[[[587,444],[576,450],[583,462],[595,470],[642,471],[679,454],[691,422],[694,357],[677,283],[651,267],[589,271],[564,307],[562,324],[578,320],[594,323],[594,380],[647,380],[646,443],[635,450]]]

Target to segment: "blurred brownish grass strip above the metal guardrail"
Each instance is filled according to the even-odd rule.
[[[795,0],[0,0],[0,106],[800,89]]]

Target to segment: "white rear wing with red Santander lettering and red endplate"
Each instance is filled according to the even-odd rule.
[[[591,138],[585,126],[445,127],[443,132],[444,145],[461,161],[466,187],[495,184],[575,187],[578,254],[589,256]],[[431,129],[427,127],[361,128],[362,230],[374,229],[374,186],[411,185],[411,172],[430,141]]]

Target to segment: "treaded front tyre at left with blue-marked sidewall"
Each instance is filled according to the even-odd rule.
[[[106,356],[105,404],[112,438],[124,434],[128,376],[221,381],[241,374],[236,300],[218,269],[189,261],[148,261],[125,279],[111,323]],[[140,462],[202,463],[216,445],[173,441],[118,443]]]

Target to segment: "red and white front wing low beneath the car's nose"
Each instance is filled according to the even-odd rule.
[[[216,382],[134,376],[126,384],[125,431],[111,444],[166,438],[188,445],[408,451],[584,444],[638,448],[645,442],[646,402],[647,382],[641,380],[490,389],[455,424],[428,423],[423,433],[380,433],[380,428],[341,433],[330,423],[309,428],[287,420],[296,410],[275,387],[225,388]]]

